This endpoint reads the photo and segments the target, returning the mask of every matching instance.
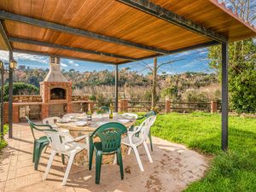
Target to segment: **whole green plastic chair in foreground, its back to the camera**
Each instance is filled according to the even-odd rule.
[[[125,125],[119,123],[107,123],[101,125],[90,135],[89,170],[92,166],[93,152],[96,152],[96,184],[100,183],[102,154],[116,154],[119,164],[121,179],[124,178],[123,160],[121,154],[121,136],[127,131]],[[99,137],[99,142],[93,142],[93,138]]]

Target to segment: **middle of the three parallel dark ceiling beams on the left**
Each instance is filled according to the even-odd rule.
[[[136,61],[137,60],[135,58],[132,58],[132,57],[129,57],[129,56],[124,56],[124,55],[115,55],[115,54],[110,54],[110,53],[104,53],[104,52],[97,51],[97,50],[69,47],[67,45],[61,45],[61,44],[49,44],[49,43],[46,43],[46,42],[35,41],[35,40],[31,40],[31,39],[26,39],[26,38],[9,37],[9,41],[10,42],[19,42],[19,43],[22,43],[22,44],[35,44],[35,45],[44,46],[44,47],[51,47],[51,48],[57,48],[57,49],[66,49],[66,50],[78,51],[78,52],[86,53],[86,54],[104,55],[104,56],[110,56],[110,57],[114,57],[114,58],[130,60],[130,61]]]

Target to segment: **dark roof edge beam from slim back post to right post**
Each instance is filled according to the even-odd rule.
[[[209,47],[209,46],[213,46],[213,45],[217,45],[217,44],[219,44],[219,43],[216,42],[216,41],[210,41],[210,42],[203,43],[203,44],[195,44],[195,45],[192,45],[192,46],[189,46],[189,47],[186,47],[186,48],[170,50],[169,55],[177,54],[177,53],[181,53],[181,52],[189,51],[189,50],[193,50],[193,49],[201,49],[201,48],[205,48],[205,47]],[[155,55],[144,56],[142,58],[137,59],[137,61],[146,60],[146,59],[153,58],[153,57],[156,57],[156,56],[162,56],[162,55],[155,54]],[[126,64],[126,63],[129,63],[129,62],[131,62],[131,61],[119,62],[118,65]]]

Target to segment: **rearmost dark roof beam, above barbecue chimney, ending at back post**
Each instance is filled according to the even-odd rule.
[[[73,56],[65,56],[65,55],[55,55],[55,54],[41,53],[41,52],[32,51],[32,50],[14,49],[14,52],[23,53],[23,54],[30,54],[30,55],[56,56],[56,57],[60,57],[60,58],[70,59],[70,60],[89,61],[89,62],[97,62],[97,63],[108,64],[108,65],[116,65],[116,63],[108,62],[108,61],[100,61],[100,60],[98,61],[98,60],[83,59],[83,58],[73,57]]]

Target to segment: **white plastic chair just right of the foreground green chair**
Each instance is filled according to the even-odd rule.
[[[137,159],[137,164],[142,172],[144,172],[144,168],[137,147],[143,144],[143,147],[145,148],[145,151],[148,155],[148,160],[150,161],[150,163],[152,163],[153,160],[149,153],[146,141],[148,138],[148,132],[150,131],[150,127],[154,124],[155,119],[156,115],[148,117],[148,119],[145,119],[141,125],[135,127],[135,131],[128,131],[127,137],[122,138],[122,143],[129,147],[128,154],[131,154],[131,148],[133,149]],[[139,137],[135,136],[136,133],[139,133]]]

